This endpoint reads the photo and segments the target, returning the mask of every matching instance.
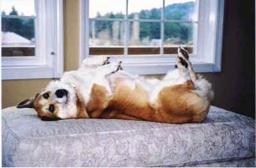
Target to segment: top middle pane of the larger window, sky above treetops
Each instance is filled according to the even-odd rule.
[[[129,0],[129,19],[133,19],[135,14],[139,14],[137,19],[161,19],[163,1],[156,0]]]

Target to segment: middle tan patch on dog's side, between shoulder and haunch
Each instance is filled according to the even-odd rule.
[[[148,93],[135,84],[134,88],[124,81],[118,82],[101,118],[145,119],[153,116],[154,108],[148,103]],[[147,119],[148,120],[148,119]]]

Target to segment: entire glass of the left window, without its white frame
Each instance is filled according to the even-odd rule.
[[[35,56],[35,1],[3,0],[2,56]]]

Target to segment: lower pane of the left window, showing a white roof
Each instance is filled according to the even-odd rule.
[[[2,16],[2,56],[35,56],[35,19]]]

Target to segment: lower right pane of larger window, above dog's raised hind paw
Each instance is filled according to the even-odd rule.
[[[165,23],[164,47],[184,46],[193,48],[194,29],[195,24],[192,23]],[[173,54],[169,52],[165,50],[164,54]]]

